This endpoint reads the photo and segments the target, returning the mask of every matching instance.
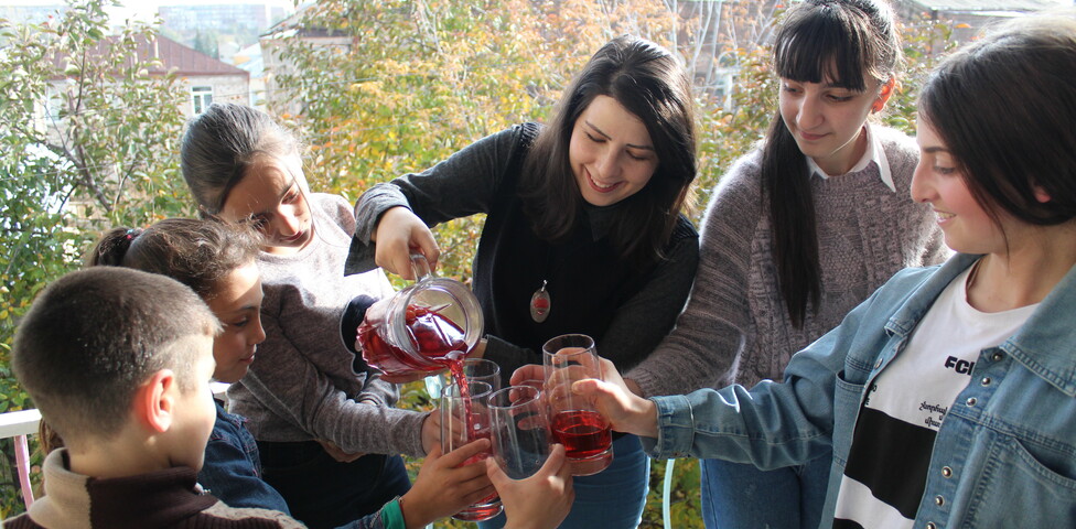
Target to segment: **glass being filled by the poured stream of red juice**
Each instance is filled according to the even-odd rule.
[[[462,392],[456,384],[450,384],[441,390],[441,451],[443,453],[448,454],[478,439],[489,439],[488,401],[492,392],[489,385],[481,381],[467,384],[467,388]],[[463,464],[481,464],[482,460],[489,455],[488,451],[483,452]],[[503,509],[501,498],[492,494],[456,512],[452,518],[463,521],[488,520],[499,515]]]

